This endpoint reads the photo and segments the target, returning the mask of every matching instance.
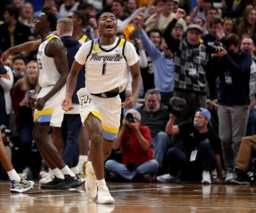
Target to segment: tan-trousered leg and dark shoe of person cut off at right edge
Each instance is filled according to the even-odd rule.
[[[256,135],[242,138],[241,146],[237,155],[236,165],[233,172],[233,184],[249,185],[251,179],[247,176],[247,171],[250,165],[251,157],[256,154]],[[254,183],[256,167],[254,163]]]

